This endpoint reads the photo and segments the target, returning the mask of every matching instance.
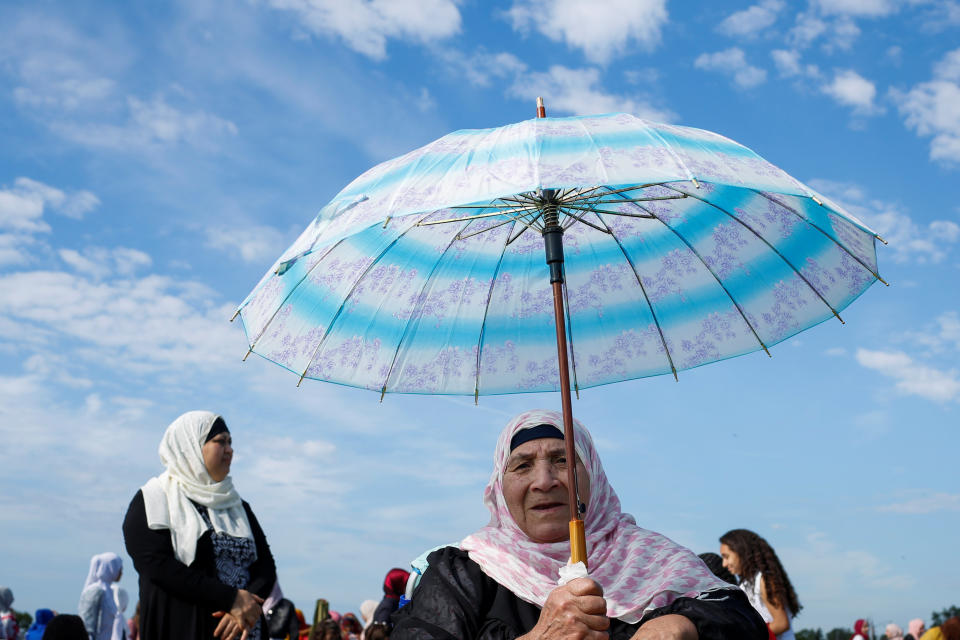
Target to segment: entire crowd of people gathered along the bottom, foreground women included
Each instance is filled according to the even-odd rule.
[[[637,526],[621,511],[590,433],[576,421],[574,433],[576,459],[568,461],[561,414],[511,420],[484,490],[489,523],[423,554],[412,573],[391,569],[380,601],[363,602],[359,616],[319,600],[308,624],[283,597],[266,534],[233,486],[226,422],[185,413],[160,443],[164,472],[136,492],[123,521],[139,575],[133,615],[118,587],[122,559],[102,553],[90,561],[77,614],[40,609],[22,634],[13,593],[0,587],[0,639],[797,639],[802,605],[764,538],[734,529],[720,536],[719,554],[698,557]],[[587,543],[579,567],[568,563],[571,494]],[[857,620],[851,640],[873,637]],[[960,640],[960,619],[929,630],[913,620],[906,635],[890,624],[885,637]]]

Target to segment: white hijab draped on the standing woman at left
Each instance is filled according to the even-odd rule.
[[[191,500],[207,508],[215,531],[253,538],[240,495],[227,476],[214,482],[201,449],[213,423],[209,411],[188,411],[174,420],[160,441],[160,461],[167,470],[141,487],[151,529],[169,529],[173,550],[185,565],[193,563],[197,540],[207,530]]]

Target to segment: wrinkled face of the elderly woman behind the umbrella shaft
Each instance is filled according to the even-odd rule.
[[[590,477],[577,458],[580,501],[590,503]],[[510,515],[534,542],[570,538],[567,502],[567,454],[563,440],[540,438],[525,442],[507,458],[503,497]]]

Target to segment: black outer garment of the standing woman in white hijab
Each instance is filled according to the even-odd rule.
[[[257,548],[246,590],[262,598],[277,580],[273,555],[250,505],[243,503]],[[138,491],[123,520],[123,538],[133,566],[140,574],[140,637],[143,640],[209,640],[219,620],[214,611],[229,611],[237,589],[217,577],[216,557],[208,530],[197,540],[190,566],[177,560],[168,529],[147,526],[143,493]],[[261,620],[262,636],[266,625]]]

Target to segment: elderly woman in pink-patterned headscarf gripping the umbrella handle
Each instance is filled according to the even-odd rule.
[[[569,558],[562,417],[530,411],[500,434],[484,492],[490,523],[431,553],[392,640],[765,640],[739,589],[620,511],[590,434],[575,423],[590,577],[557,586]]]

